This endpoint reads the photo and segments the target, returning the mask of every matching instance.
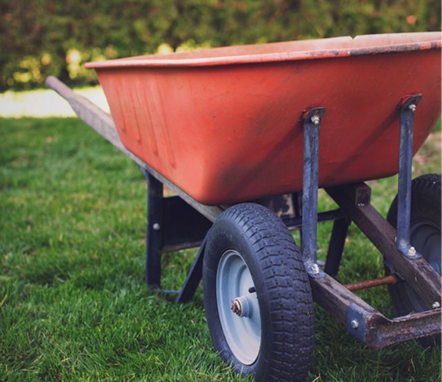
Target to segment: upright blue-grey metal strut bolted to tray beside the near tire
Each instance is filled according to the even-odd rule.
[[[304,114],[304,161],[302,198],[302,254],[312,277],[323,277],[317,264],[319,125],[325,108],[311,108]]]

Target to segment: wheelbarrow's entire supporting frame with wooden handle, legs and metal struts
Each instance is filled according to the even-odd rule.
[[[46,85],[65,98],[79,118],[88,123],[110,143],[137,163],[148,181],[148,224],[146,253],[146,282],[154,290],[161,290],[161,253],[200,245],[177,301],[190,301],[202,274],[205,233],[226,206],[203,205],[176,185],[165,179],[147,163],[126,150],[119,140],[114,121],[109,114],[84,97],[74,94],[55,77],[48,77]],[[304,122],[304,183],[303,205],[300,214],[297,194],[266,198],[259,203],[280,215],[289,229],[301,228],[303,256],[310,274],[314,301],[344,323],[348,332],[371,348],[430,336],[441,332],[441,308],[387,319],[365,303],[351,290],[405,280],[430,306],[441,306],[441,277],[419,254],[410,252],[410,183],[412,159],[412,127],[414,110],[420,94],[404,97],[399,103],[400,154],[398,230],[383,219],[370,204],[370,188],[364,183],[328,188],[326,192],[339,205],[339,210],[317,213],[319,124],[324,108],[310,108],[303,114]],[[163,197],[163,185],[176,192],[177,197]],[[291,213],[287,213],[292,210]],[[293,212],[294,211],[294,212]],[[332,237],[325,262],[325,272],[317,272],[317,222],[334,220]],[[383,254],[392,270],[391,277],[341,285],[331,276],[339,269],[339,262],[350,222],[354,222]],[[190,229],[190,230],[186,230]],[[318,267],[319,268],[319,267]]]

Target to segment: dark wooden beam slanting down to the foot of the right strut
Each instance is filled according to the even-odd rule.
[[[396,248],[396,230],[371,204],[355,204],[352,195],[359,185],[344,185],[326,191],[356,223],[401,277],[430,306],[441,301],[441,277],[425,259],[407,259]]]

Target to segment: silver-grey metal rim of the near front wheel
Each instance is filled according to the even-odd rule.
[[[261,316],[252,275],[241,254],[223,253],[217,270],[217,305],[225,340],[232,354],[244,365],[256,361],[261,346]],[[235,299],[241,301],[241,316],[232,311]]]

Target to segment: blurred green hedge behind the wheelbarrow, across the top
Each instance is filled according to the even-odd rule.
[[[91,60],[201,46],[440,30],[440,0],[0,2],[0,91],[54,74],[93,83]]]

